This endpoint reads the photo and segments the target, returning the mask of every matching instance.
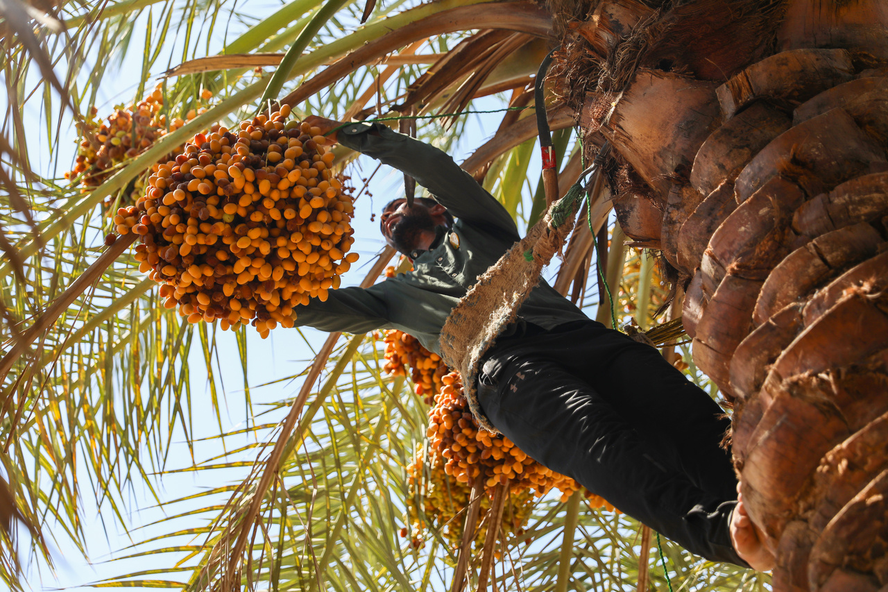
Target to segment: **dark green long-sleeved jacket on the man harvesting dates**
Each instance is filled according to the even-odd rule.
[[[440,353],[438,339],[451,309],[476,278],[519,240],[518,228],[503,205],[438,148],[382,124],[346,125],[338,132],[338,140],[406,172],[456,221],[449,230],[438,228],[431,251],[410,253],[413,271],[367,289],[330,290],[326,302],[313,299],[294,308],[296,324],[329,332],[400,329]],[[588,320],[543,280],[522,305],[519,316],[543,329]]]

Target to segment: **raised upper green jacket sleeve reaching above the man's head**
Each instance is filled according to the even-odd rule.
[[[379,123],[348,124],[337,137],[346,148],[406,172],[464,223],[496,228],[519,238],[518,228],[503,205],[438,148]]]

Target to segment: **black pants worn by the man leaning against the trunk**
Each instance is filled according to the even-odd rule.
[[[591,320],[529,327],[485,356],[478,398],[531,458],[689,551],[747,566],[728,532],[730,420],[656,349]]]

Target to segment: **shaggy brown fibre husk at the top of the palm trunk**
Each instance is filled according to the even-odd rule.
[[[561,96],[580,109],[588,92],[622,92],[638,68],[725,81],[773,50],[786,2],[548,4],[563,46],[553,76]]]

